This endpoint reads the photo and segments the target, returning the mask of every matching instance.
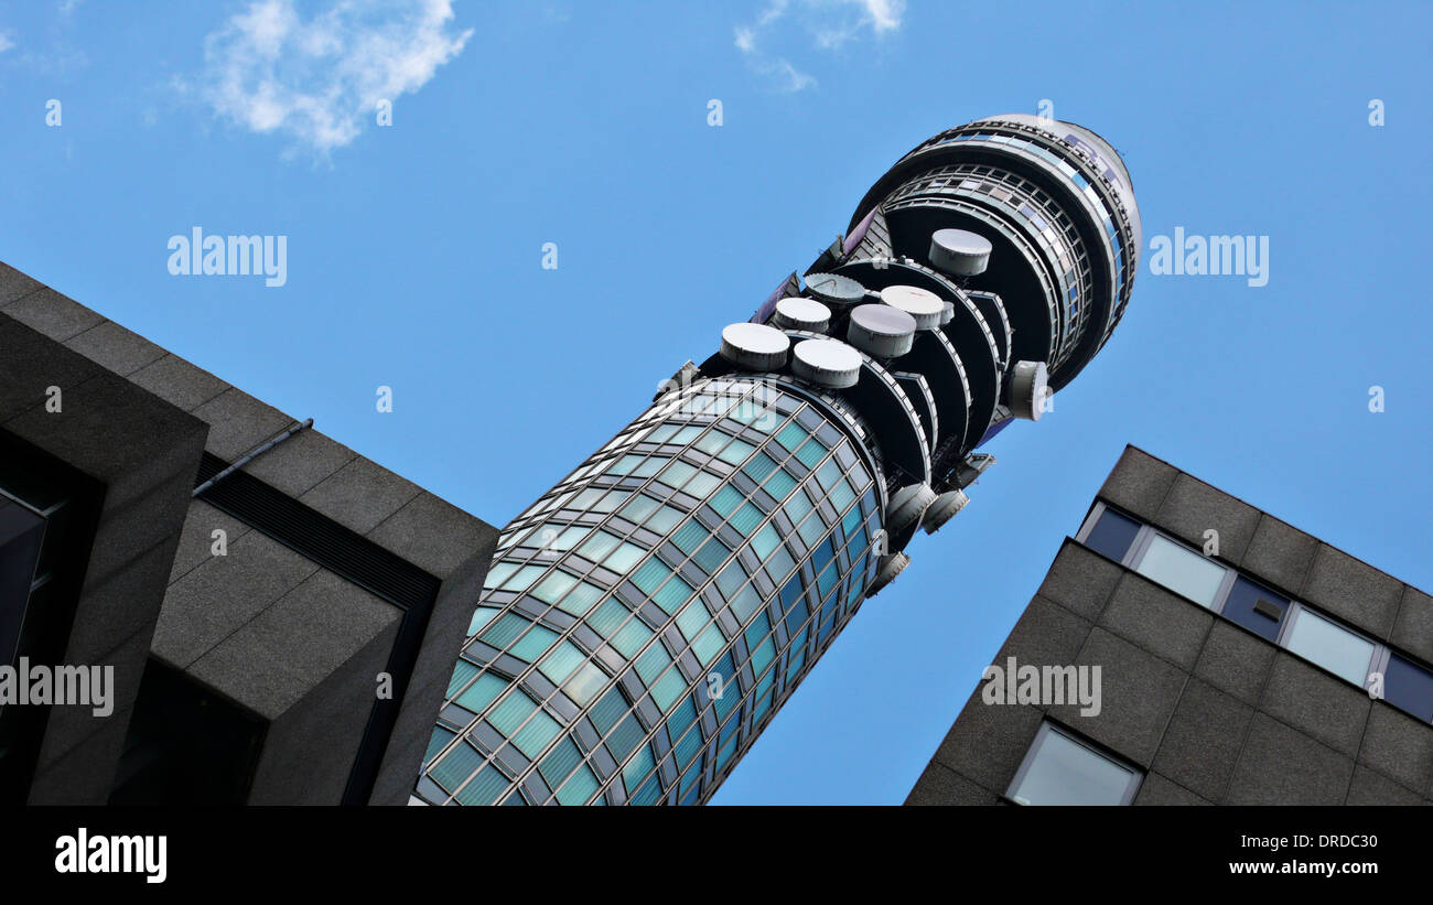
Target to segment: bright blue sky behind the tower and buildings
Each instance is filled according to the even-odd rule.
[[[1433,587],[1430,7],[332,6],[0,4],[0,259],[494,524],[943,127],[1049,100],[1146,242],[1268,238],[1264,286],[1142,268],[716,802],[900,802],[1126,442]],[[171,275],[193,226],[287,282]]]

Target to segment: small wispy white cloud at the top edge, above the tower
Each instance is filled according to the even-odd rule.
[[[817,50],[838,50],[864,33],[881,37],[900,27],[906,0],[768,0],[748,26],[737,26],[735,44],[752,67],[771,77],[784,92],[815,86],[815,79],[784,56],[770,56],[762,47],[782,23],[794,24]]]

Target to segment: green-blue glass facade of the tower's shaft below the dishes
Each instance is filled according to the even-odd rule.
[[[860,606],[876,464],[820,397],[662,397],[499,541],[418,780],[433,803],[696,803]]]

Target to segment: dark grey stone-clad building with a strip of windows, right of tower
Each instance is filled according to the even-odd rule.
[[[1012,657],[1099,667],[1098,715],[992,674],[906,803],[1433,802],[1433,599],[1134,447]]]

